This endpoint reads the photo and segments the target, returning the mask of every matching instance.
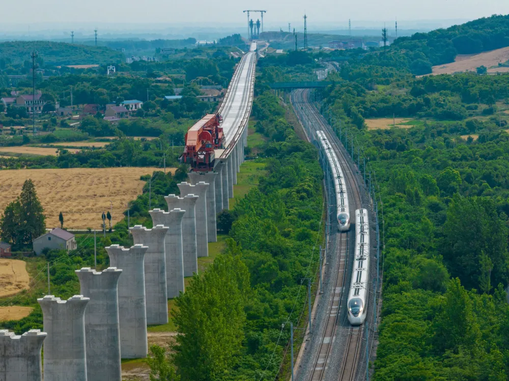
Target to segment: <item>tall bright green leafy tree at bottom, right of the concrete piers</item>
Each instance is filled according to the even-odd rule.
[[[240,354],[249,272],[238,256],[216,257],[176,300],[175,365],[183,381],[222,379]]]

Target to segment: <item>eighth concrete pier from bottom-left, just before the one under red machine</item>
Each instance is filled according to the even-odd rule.
[[[207,221],[207,190],[209,184],[198,183],[191,185],[189,183],[177,184],[181,195],[194,194],[198,196],[194,210],[196,219],[196,255],[197,257],[208,257],[208,221]],[[185,265],[184,265],[185,269]]]

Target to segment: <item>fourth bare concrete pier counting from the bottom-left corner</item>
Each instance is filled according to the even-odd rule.
[[[105,248],[111,267],[122,269],[119,279],[120,355],[123,359],[146,358],[147,312],[145,299],[145,252],[148,247]]]

